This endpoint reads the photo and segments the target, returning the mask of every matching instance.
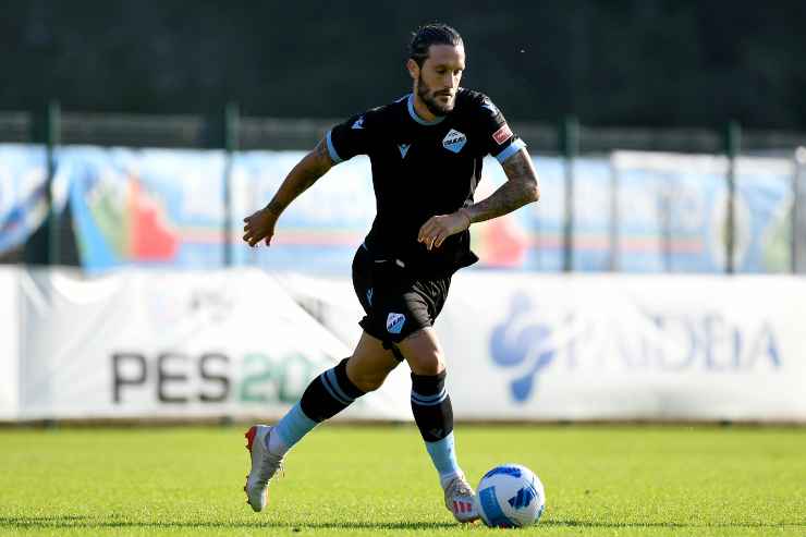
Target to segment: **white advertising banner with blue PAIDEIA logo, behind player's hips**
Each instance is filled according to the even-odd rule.
[[[349,280],[278,279],[357,335]],[[468,270],[436,329],[457,419],[804,422],[804,304],[792,277]]]

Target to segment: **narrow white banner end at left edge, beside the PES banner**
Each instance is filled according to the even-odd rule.
[[[17,271],[0,267],[0,419],[11,420],[17,413],[20,364],[20,301]]]

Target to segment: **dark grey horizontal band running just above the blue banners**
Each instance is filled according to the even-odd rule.
[[[0,112],[0,143],[45,143],[57,132],[61,144],[211,148],[224,147],[228,136],[237,149],[306,149],[342,119],[281,119],[241,117],[230,105],[216,115],[149,115],[61,111],[53,103],[41,112]],[[574,120],[571,120],[572,122]],[[518,123],[513,130],[529,142],[535,152],[557,154],[562,148],[564,125]],[[53,124],[56,123],[56,125]],[[599,127],[577,124],[581,152],[648,150],[719,154],[725,150],[725,130]],[[743,131],[742,152],[770,154],[806,146],[806,133]]]

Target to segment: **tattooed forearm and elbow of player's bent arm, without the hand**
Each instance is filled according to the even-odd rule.
[[[506,215],[526,204],[537,202],[540,197],[535,168],[525,149],[521,149],[504,160],[502,166],[506,173],[506,182],[487,199],[465,209],[469,212],[473,222]]]

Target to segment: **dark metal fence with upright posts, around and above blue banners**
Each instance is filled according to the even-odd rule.
[[[48,175],[52,179],[54,160],[52,148],[59,145],[91,145],[101,147],[166,147],[225,149],[228,162],[234,151],[253,149],[307,149],[322,138],[337,119],[278,119],[241,117],[236,105],[228,105],[216,115],[146,115],[63,112],[51,102],[39,112],[0,112],[0,143],[44,144],[48,151]],[[533,152],[559,155],[565,162],[564,221],[562,225],[562,269],[573,270],[574,260],[574,159],[581,155],[608,155],[615,150],[649,150],[669,152],[721,154],[728,157],[725,173],[728,209],[725,211],[725,271],[731,273],[735,248],[735,161],[742,155],[778,155],[790,157],[795,148],[806,146],[806,133],[777,131],[742,131],[729,123],[720,131],[705,129],[627,129],[581,125],[574,118],[563,118],[557,124],[513,123],[513,130],[528,141]],[[803,170],[806,150],[797,152],[792,182],[792,271],[806,268],[806,210],[802,209],[804,192]],[[229,170],[229,167],[227,168]],[[228,178],[224,179],[225,185]],[[225,186],[225,205],[229,204]],[[228,205],[229,207],[229,205]],[[231,218],[225,218],[229,225]],[[668,231],[668,230],[667,230]],[[230,229],[223,236],[232,235]],[[58,258],[60,242],[58,216],[52,216],[38,246],[38,254],[28,260]],[[227,252],[229,249],[225,248]],[[611,269],[616,269],[614,265]]]

